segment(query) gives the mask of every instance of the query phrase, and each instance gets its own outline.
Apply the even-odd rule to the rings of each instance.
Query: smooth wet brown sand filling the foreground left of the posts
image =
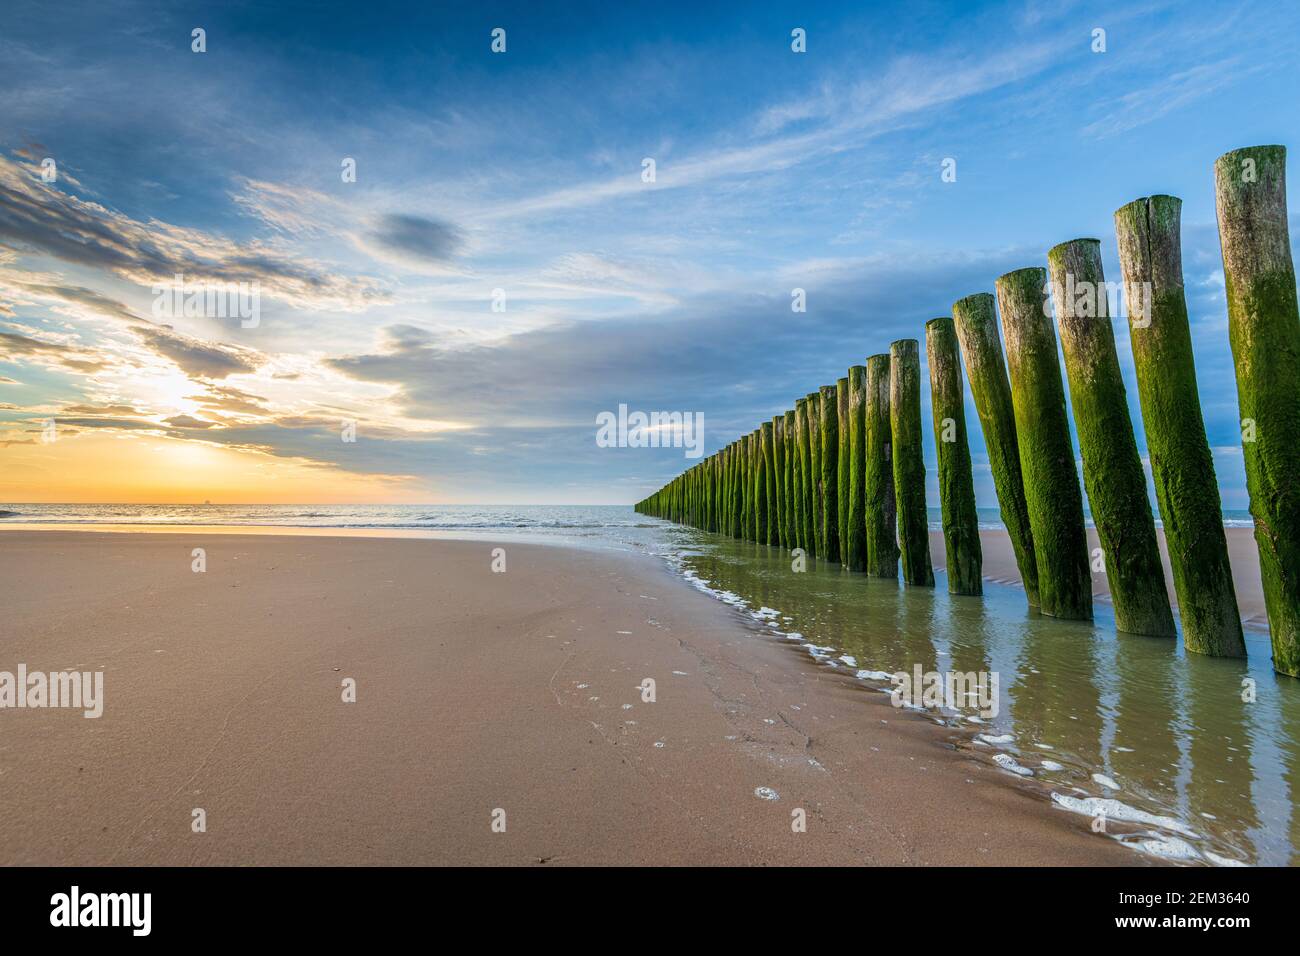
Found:
[[[0,711],[0,864],[1148,862],[655,559],[493,546],[0,532],[0,670],[105,675]]]

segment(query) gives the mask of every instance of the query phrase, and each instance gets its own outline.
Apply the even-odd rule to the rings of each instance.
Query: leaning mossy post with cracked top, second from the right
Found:
[[[1183,645],[1213,657],[1245,657],[1214,458],[1196,388],[1183,295],[1182,206],[1174,196],[1148,196],[1115,212],[1128,337]]]

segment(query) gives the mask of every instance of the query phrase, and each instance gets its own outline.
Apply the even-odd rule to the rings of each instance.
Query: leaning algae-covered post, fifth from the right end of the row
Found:
[[[1015,553],[1024,594],[1031,606],[1039,606],[1039,566],[1034,553],[1034,531],[1030,509],[1024,501],[1024,479],[1020,475],[1020,446],[1015,436],[1015,408],[1011,405],[1011,382],[1002,359],[1002,339],[997,334],[997,311],[989,293],[976,293],[953,303],[953,325],[961,342],[966,380],[975,399],[993,490],[997,492],[1002,524]]]

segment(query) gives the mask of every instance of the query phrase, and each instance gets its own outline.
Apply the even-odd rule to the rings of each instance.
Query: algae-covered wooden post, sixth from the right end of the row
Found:
[[[948,591],[953,594],[982,594],[984,557],[979,541],[979,514],[975,511],[971,453],[966,444],[962,365],[952,319],[926,323],[926,363],[930,365],[930,405],[939,457]]]

